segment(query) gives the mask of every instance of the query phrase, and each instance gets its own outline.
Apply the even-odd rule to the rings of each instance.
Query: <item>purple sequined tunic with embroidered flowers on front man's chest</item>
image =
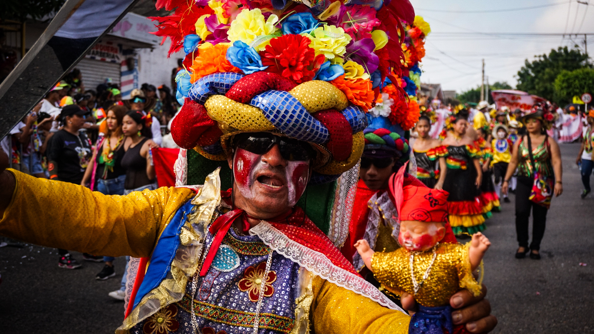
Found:
[[[208,234],[204,249],[214,236]],[[199,334],[244,334],[254,329],[263,279],[266,288],[260,308],[258,333],[289,333],[295,322],[299,264],[273,252],[257,235],[238,235],[233,229],[214,257],[206,276],[198,278],[194,312]],[[162,308],[130,329],[132,334],[194,333],[191,320],[192,282],[178,303]]]

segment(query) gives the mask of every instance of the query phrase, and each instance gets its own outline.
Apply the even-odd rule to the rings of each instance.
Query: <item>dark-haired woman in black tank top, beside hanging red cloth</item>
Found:
[[[122,121],[122,132],[126,137],[122,166],[126,169],[124,194],[132,191],[154,190],[157,188],[155,171],[150,149],[159,147],[153,140],[151,118],[140,111],[128,112]]]

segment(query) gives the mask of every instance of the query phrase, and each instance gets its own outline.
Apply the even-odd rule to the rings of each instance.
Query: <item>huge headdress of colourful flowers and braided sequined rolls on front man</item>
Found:
[[[380,86],[409,73],[409,0],[157,1],[163,7],[177,9],[153,18],[155,34],[186,53],[172,136],[211,160],[226,159],[236,133],[275,131],[317,149],[310,182],[336,179],[361,156]],[[408,105],[405,89],[393,90],[394,103]]]

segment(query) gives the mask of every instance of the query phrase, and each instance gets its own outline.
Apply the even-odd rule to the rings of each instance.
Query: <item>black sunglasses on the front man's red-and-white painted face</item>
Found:
[[[271,133],[242,133],[233,138],[238,149],[244,149],[257,155],[270,151],[274,144],[279,144],[280,155],[285,160],[309,161],[315,156],[314,150],[305,141],[274,136]]]

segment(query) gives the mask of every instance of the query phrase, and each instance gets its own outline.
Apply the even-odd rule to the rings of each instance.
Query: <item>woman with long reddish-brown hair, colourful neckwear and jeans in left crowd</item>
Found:
[[[124,194],[126,170],[121,164],[125,153],[122,120],[127,112],[128,108],[125,106],[113,105],[109,107],[105,119],[108,132],[105,136],[100,137],[81,185],[86,186],[90,180],[91,190],[106,195]]]

